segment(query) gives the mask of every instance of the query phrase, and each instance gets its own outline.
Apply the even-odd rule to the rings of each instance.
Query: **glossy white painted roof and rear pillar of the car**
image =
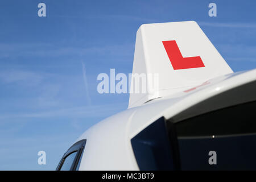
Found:
[[[192,22],[192,24],[195,23]],[[220,59],[221,65],[225,67],[222,57],[218,55],[217,57]],[[214,69],[217,69],[217,67],[214,67]],[[229,67],[226,67],[226,72],[232,71]],[[237,86],[256,81],[256,69],[246,72],[229,73],[222,76],[219,75],[220,73],[222,72],[216,73],[213,71],[211,74],[216,74],[218,77],[208,80],[201,79],[201,82],[197,84],[198,86],[186,86],[180,92],[172,93],[170,96],[157,98],[146,104],[122,111],[104,119],[85,131],[77,139],[77,141],[86,139],[85,150],[79,169],[138,170],[130,140],[140,131],[160,117],[169,119],[210,97],[217,96]],[[186,85],[188,85],[188,82],[185,81],[187,76],[181,79]],[[205,78],[209,77],[205,76]],[[177,79],[179,80],[179,78]],[[197,80],[196,77],[195,80]]]

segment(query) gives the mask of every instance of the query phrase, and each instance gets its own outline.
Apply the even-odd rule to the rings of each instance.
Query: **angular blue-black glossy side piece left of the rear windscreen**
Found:
[[[168,140],[166,120],[162,117],[131,139],[133,151],[141,170],[174,169]]]

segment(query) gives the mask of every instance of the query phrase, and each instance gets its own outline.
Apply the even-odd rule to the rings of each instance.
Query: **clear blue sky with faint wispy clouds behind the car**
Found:
[[[46,17],[38,4],[46,3]],[[208,16],[210,2],[217,17]],[[196,20],[233,71],[256,68],[256,1],[0,1],[0,169],[55,169],[88,127],[128,105],[97,76],[131,73],[143,23]],[[38,151],[47,164],[38,165]]]

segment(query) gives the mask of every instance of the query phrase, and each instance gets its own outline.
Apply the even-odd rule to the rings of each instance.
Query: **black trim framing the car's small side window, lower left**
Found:
[[[56,168],[56,171],[60,171],[61,167],[63,166],[63,163],[65,161],[65,158],[67,158],[67,156],[69,156],[70,154],[72,154],[73,152],[77,152],[76,156],[75,156],[75,160],[72,163],[71,169],[70,171],[75,171],[77,168],[77,164],[79,164],[80,160],[81,160],[81,155],[82,152],[84,151],[84,147],[86,144],[86,139],[83,140],[79,140],[78,142],[76,142],[75,144],[73,144],[67,152],[65,152],[65,154],[63,155],[63,157],[60,160],[59,165]]]

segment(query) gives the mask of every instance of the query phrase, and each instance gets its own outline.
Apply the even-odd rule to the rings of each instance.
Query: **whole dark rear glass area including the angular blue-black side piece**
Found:
[[[256,101],[176,121],[159,118],[131,139],[142,170],[256,170]]]

